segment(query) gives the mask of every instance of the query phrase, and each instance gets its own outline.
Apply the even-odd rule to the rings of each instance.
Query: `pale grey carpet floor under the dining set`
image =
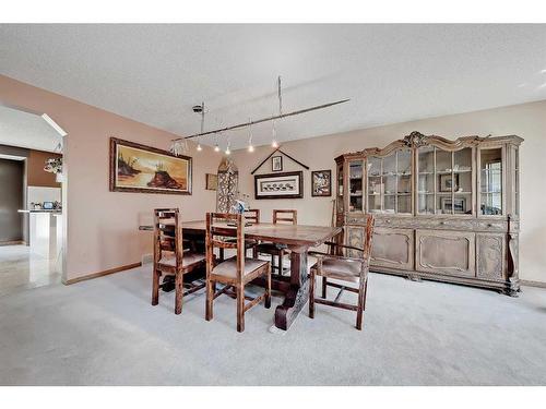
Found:
[[[152,306],[150,288],[145,265],[0,297],[0,384],[546,385],[545,289],[509,298],[371,274],[363,332],[353,312],[317,305],[272,333],[275,297],[238,334],[233,299],[206,322],[202,291],[176,316],[174,292]]]

